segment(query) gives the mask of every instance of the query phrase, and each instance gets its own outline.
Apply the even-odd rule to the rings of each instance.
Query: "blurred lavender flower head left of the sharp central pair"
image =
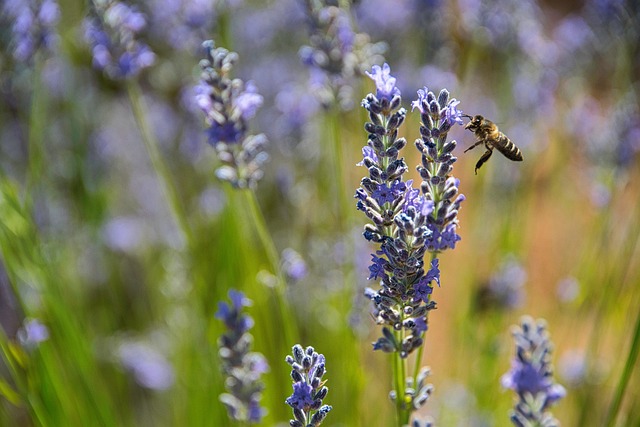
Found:
[[[247,120],[262,105],[253,83],[231,79],[238,60],[235,52],[216,48],[212,40],[202,44],[206,58],[200,61],[202,80],[196,87],[196,104],[205,114],[209,143],[223,166],[216,176],[234,187],[253,188],[262,178],[262,166],[269,155],[264,134],[247,135]]]

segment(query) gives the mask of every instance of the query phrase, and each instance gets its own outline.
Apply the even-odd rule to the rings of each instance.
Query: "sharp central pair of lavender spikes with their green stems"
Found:
[[[434,284],[440,284],[437,255],[460,240],[457,212],[464,196],[458,194],[459,181],[450,174],[456,142],[447,141],[447,133],[454,124],[462,124],[462,113],[446,89],[437,99],[426,88],[418,91],[413,107],[422,117],[422,138],[416,147],[422,154],[418,171],[423,181],[420,188],[413,188],[412,180],[403,179],[408,167],[399,157],[407,144],[398,137],[407,112],[400,106],[400,90],[390,72],[384,64],[367,73],[376,83],[376,94],[362,101],[370,121],[365,124],[368,141],[359,165],[369,176],[362,179],[355,197],[357,209],[371,221],[364,227],[365,239],[379,244],[371,255],[369,279],[380,280],[381,288],[365,292],[373,302],[376,322],[383,325],[373,348],[393,353],[390,397],[398,426],[404,426],[431,393],[425,382],[427,371],[420,370],[420,364],[428,314],[436,307],[431,295]],[[427,253],[431,259],[425,266]],[[407,376],[407,358],[415,350],[415,369]]]

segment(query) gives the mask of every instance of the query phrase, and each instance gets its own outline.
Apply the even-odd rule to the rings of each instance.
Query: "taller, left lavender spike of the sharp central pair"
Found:
[[[369,94],[362,101],[371,122],[365,125],[369,138],[359,165],[368,169],[369,176],[356,191],[356,206],[371,220],[364,237],[380,244],[371,255],[369,279],[379,280],[381,289],[369,289],[366,295],[373,301],[376,321],[386,325],[374,350],[406,358],[423,342],[427,312],[435,307],[429,301],[433,282],[440,280],[437,260],[428,271],[424,268],[432,235],[427,218],[434,205],[412,187],[411,180],[403,180],[407,165],[399,154],[406,140],[397,134],[406,111],[400,108],[395,77],[387,64],[367,74],[376,83],[377,96]],[[404,330],[402,341],[390,333],[399,328]]]

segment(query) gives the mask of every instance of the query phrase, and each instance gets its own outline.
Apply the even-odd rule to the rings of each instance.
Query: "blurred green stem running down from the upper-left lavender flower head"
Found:
[[[169,168],[158,149],[158,141],[149,126],[140,87],[135,81],[128,81],[127,92],[129,94],[129,100],[131,101],[133,116],[142,134],[142,141],[147,149],[151,165],[158,174],[158,178],[160,178],[162,191],[167,199],[173,218],[179,230],[182,232],[187,246],[191,246],[193,238],[187,221],[187,214],[180,197],[178,197],[178,191],[169,172]]]

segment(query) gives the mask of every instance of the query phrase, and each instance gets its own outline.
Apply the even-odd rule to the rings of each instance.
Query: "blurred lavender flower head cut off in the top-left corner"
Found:
[[[60,8],[55,0],[12,0],[2,6],[9,18],[13,57],[28,63],[39,50],[51,51],[57,39]]]

